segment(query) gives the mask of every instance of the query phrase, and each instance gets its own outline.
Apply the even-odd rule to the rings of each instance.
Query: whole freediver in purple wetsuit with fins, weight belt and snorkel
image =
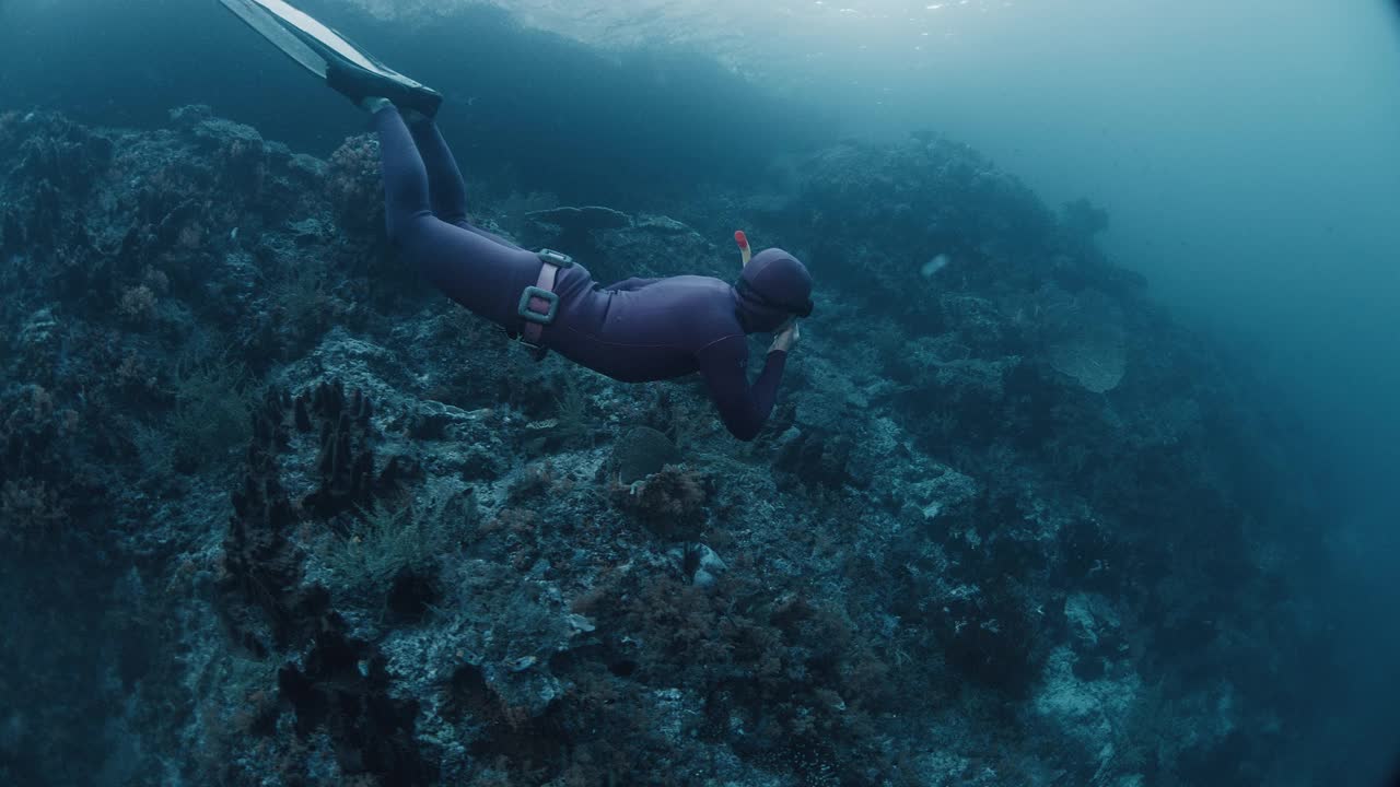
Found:
[[[434,115],[441,95],[385,67],[281,0],[224,0],[255,29],[372,116],[391,245],[444,294],[526,344],[624,382],[700,372],[724,426],[753,440],[777,398],[812,277],[783,249],[750,256],[734,283],[710,276],[602,287],[554,251],[526,251],[468,220],[466,188]],[[774,333],[748,379],[749,333]]]

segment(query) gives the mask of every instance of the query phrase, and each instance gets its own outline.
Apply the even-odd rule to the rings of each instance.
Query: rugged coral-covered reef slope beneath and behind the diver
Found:
[[[603,281],[804,256],[742,444],[430,291],[375,167],[0,115],[0,781],[1312,783],[1305,450],[1092,206],[938,137],[482,206]]]

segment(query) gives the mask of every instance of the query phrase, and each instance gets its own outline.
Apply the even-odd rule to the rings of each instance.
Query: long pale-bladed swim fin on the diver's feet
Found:
[[[281,49],[332,88],[358,104],[381,95],[400,109],[433,118],[442,94],[395,71],[350,43],[343,35],[284,0],[220,0],[248,27]]]

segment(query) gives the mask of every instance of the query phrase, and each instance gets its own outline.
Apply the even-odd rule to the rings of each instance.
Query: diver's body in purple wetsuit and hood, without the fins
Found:
[[[393,246],[456,302],[512,335],[525,330],[522,293],[542,283],[547,263],[468,221],[462,176],[430,118],[412,113],[405,122],[388,101],[360,104],[374,113],[379,136]],[[811,312],[811,277],[780,249],[748,260],[738,287],[708,276],[601,287],[584,266],[568,265],[553,272],[547,288],[557,311],[533,343],[626,382],[700,372],[725,427],[741,440],[756,437],[767,420],[798,337],[795,318]],[[756,332],[777,337],[750,385],[745,336]]]

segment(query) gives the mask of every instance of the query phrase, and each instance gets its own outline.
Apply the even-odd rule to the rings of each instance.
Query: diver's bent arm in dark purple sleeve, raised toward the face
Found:
[[[714,399],[725,429],[739,440],[757,437],[777,401],[787,353],[770,351],[763,372],[753,385],[749,385],[746,374],[749,346],[743,336],[725,336],[700,350],[699,357],[700,374],[704,375],[710,398]]]

